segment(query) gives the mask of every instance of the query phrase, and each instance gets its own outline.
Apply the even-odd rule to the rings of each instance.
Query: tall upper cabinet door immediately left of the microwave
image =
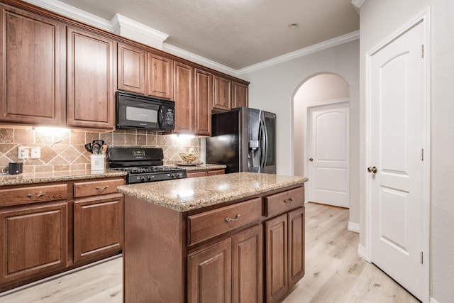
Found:
[[[114,40],[77,28],[67,39],[67,125],[114,131]]]

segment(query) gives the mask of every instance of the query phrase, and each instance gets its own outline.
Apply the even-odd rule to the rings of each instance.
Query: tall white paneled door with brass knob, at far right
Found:
[[[423,292],[423,24],[370,61],[370,258]]]

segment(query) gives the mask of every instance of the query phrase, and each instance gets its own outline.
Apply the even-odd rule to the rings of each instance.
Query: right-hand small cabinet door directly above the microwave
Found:
[[[173,99],[173,60],[148,53],[148,94]]]

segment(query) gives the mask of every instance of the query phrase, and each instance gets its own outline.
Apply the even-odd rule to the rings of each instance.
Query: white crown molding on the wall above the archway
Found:
[[[282,62],[294,60],[298,57],[310,55],[311,53],[316,53],[316,52],[319,52],[320,50],[326,50],[327,48],[332,48],[333,46],[341,45],[343,43],[348,43],[350,41],[357,40],[359,38],[360,38],[360,31],[354,31],[352,33],[340,35],[336,38],[332,38],[332,39],[323,41],[321,43],[317,43],[317,44],[308,46],[307,48],[301,48],[300,50],[295,50],[292,53],[287,53],[285,55],[282,55],[279,57],[274,57],[270,60],[266,60],[266,61],[260,62],[258,64],[255,64],[255,65],[250,65],[241,70],[237,70],[236,72],[237,72],[237,75],[243,75],[248,72],[255,72],[256,70],[262,70],[265,67],[270,67],[272,65],[277,65]]]

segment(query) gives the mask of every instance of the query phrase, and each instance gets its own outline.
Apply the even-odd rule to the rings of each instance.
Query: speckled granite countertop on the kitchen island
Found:
[[[118,191],[183,212],[302,184],[307,181],[306,177],[236,172],[166,182],[122,185],[118,187]]]

